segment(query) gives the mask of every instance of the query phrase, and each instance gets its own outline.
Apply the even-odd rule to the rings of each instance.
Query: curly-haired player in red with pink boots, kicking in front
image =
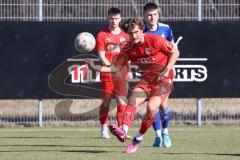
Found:
[[[86,63],[91,69],[103,72],[119,72],[128,61],[141,69],[142,79],[136,84],[129,97],[123,125],[121,127],[110,125],[110,131],[121,142],[125,142],[136,107],[147,101],[147,111],[141,128],[124,150],[126,153],[132,153],[138,149],[143,135],[152,125],[157,108],[172,91],[174,76],[172,67],[179,57],[179,51],[171,42],[160,36],[144,34],[145,25],[140,19],[129,19],[125,27],[131,37],[132,46],[122,50],[114,65],[96,66],[90,59],[87,59]]]

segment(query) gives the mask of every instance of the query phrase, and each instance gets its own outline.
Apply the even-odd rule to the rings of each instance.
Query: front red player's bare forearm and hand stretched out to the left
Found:
[[[95,65],[93,60],[89,58],[85,59],[85,62],[90,69],[98,72],[118,72],[120,70],[120,68],[116,67],[115,65],[109,65],[109,66]]]

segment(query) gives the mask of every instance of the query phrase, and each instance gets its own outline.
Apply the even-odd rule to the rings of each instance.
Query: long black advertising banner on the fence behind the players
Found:
[[[180,58],[171,97],[240,97],[240,22],[171,22]],[[0,98],[100,98],[99,73],[86,70],[75,36],[100,22],[0,25]],[[97,62],[98,63],[98,62]],[[136,66],[130,86],[140,79]]]

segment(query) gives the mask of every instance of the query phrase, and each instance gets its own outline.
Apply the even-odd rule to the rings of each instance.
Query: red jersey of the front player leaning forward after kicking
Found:
[[[118,65],[125,65],[128,60],[136,64],[142,71],[142,80],[148,84],[155,85],[159,74],[165,69],[169,61],[169,53],[173,44],[164,38],[145,34],[144,42],[140,45],[133,45],[129,50],[119,56]],[[174,78],[173,70],[169,72],[169,79]]]

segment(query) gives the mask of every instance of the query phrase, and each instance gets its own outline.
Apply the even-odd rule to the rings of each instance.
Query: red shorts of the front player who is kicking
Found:
[[[134,88],[143,89],[147,94],[147,98],[160,96],[164,101],[173,90],[173,80],[164,79],[157,85],[149,85],[146,81],[141,80]]]

